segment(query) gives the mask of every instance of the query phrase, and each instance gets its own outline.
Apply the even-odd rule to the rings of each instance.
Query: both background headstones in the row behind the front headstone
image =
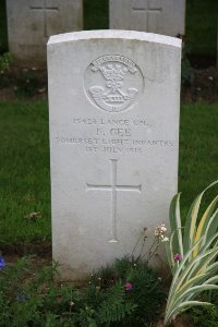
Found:
[[[83,29],[83,0],[7,0],[9,48],[16,62],[46,64],[46,43]],[[184,34],[185,0],[110,0],[110,28]]]

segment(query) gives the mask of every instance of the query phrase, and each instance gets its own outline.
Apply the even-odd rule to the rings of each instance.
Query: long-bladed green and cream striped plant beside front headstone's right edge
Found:
[[[193,305],[209,305],[205,301],[195,301],[206,290],[217,290],[218,262],[218,195],[198,219],[199,207],[206,187],[193,202],[182,232],[180,216],[180,194],[170,205],[171,237],[167,243],[169,265],[173,275],[171,282],[165,324],[169,324],[179,313]]]

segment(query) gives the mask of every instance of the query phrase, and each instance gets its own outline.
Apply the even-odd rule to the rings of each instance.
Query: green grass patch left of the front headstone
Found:
[[[46,102],[0,101],[0,244],[50,238]]]

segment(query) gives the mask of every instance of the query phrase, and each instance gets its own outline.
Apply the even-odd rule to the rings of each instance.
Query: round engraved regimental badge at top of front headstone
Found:
[[[107,55],[88,65],[84,87],[88,99],[97,108],[120,112],[136,102],[144,80],[132,60],[120,55]]]

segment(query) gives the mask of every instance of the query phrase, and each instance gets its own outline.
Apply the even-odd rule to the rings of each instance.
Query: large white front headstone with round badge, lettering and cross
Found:
[[[181,40],[126,31],[48,43],[52,249],[63,277],[131,253],[177,192]]]

